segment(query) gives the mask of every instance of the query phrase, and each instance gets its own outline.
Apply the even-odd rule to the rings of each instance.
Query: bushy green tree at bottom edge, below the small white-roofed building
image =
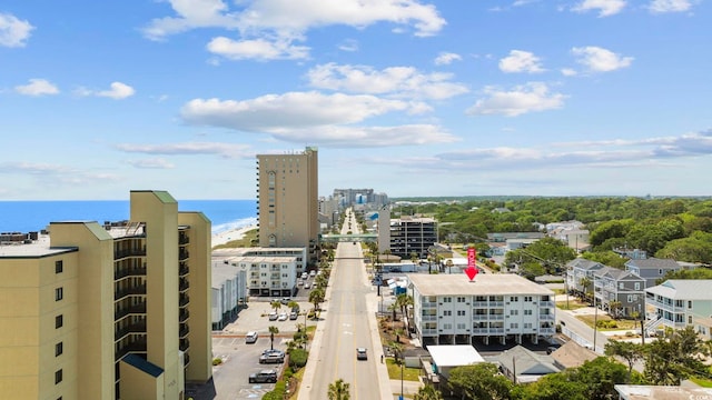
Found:
[[[447,384],[462,399],[508,399],[513,383],[497,372],[497,367],[490,362],[455,367],[449,372]]]

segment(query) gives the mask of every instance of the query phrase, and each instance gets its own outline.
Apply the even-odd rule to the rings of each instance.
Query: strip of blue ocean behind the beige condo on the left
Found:
[[[178,200],[178,210],[201,211],[214,234],[257,223],[255,200]],[[0,201],[0,232],[40,231],[58,221],[122,221],[129,212],[128,200]]]

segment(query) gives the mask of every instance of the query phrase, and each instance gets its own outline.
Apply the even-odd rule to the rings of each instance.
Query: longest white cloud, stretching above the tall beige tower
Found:
[[[307,127],[362,122],[392,111],[407,111],[409,104],[374,96],[288,92],[251,100],[195,99],[180,116],[187,123],[224,127],[240,131],[276,133]]]

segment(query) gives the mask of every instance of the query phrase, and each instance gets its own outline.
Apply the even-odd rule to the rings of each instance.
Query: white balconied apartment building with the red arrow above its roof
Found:
[[[538,342],[555,333],[554,292],[512,273],[407,276],[423,346]]]

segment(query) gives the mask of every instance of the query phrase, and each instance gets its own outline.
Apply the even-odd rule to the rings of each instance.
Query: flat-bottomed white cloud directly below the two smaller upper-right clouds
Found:
[[[487,98],[477,100],[473,107],[466,110],[467,114],[516,117],[527,112],[562,108],[566,98],[561,93],[551,93],[548,87],[542,82],[530,82],[515,87],[511,91],[487,87],[484,89],[484,93]]]

